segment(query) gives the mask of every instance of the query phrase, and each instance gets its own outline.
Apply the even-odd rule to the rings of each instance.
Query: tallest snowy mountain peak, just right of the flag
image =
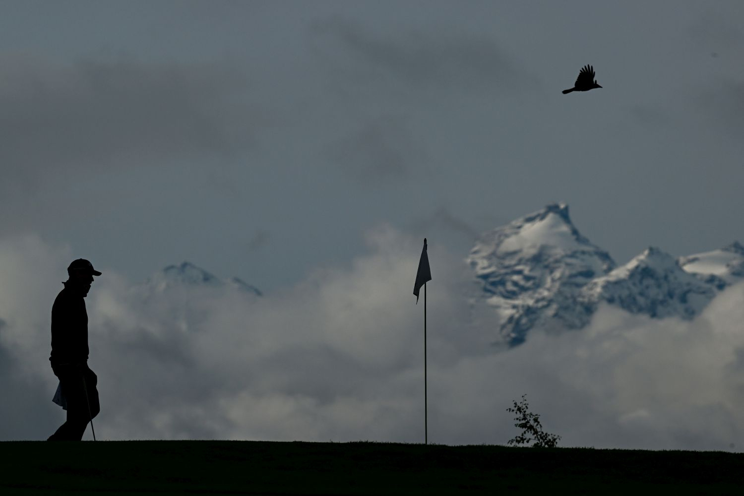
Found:
[[[565,203],[484,234],[466,261],[501,318],[499,334],[511,344],[536,325],[588,323],[591,312],[576,304],[580,290],[615,268],[606,251],[577,231]]]

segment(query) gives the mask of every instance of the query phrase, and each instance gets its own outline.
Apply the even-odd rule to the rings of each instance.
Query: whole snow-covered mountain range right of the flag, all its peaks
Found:
[[[466,262],[479,285],[474,303],[498,312],[498,335],[512,345],[535,326],[583,327],[603,302],[652,318],[690,319],[744,280],[744,247],[736,242],[679,260],[648,248],[617,267],[579,233],[565,203],[485,233]]]

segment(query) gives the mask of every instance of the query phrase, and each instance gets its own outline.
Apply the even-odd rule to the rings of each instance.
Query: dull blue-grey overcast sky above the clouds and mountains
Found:
[[[744,238],[740,1],[4,2],[5,236],[263,291],[388,222],[564,201],[618,263]],[[601,90],[562,95],[594,65]]]

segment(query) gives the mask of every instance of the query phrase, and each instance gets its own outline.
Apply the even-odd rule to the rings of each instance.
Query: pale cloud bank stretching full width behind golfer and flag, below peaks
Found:
[[[103,271],[87,300],[101,439],[423,441],[421,249],[391,228],[369,253],[262,298],[228,289],[149,294]],[[301,246],[298,246],[301,249]],[[45,439],[51,303],[68,248],[0,240],[0,439]],[[84,256],[84,255],[83,255]],[[495,317],[466,303],[459,257],[429,243],[429,441],[504,444],[527,393],[559,445],[744,446],[744,285],[694,321],[606,306],[591,326],[490,345]],[[248,281],[250,282],[250,281]]]

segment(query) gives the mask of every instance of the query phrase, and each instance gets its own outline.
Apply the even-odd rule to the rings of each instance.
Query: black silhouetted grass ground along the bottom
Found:
[[[379,442],[0,442],[0,495],[744,495],[744,454]]]

